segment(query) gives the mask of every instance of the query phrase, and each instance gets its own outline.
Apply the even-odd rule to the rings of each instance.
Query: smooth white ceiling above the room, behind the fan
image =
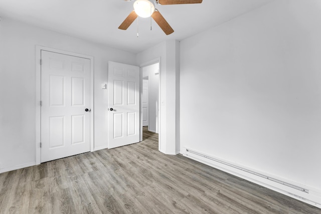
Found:
[[[125,0],[0,0],[0,17],[82,38],[132,53],[165,40],[183,40],[273,0],[203,0],[202,4],[156,5],[174,33],[166,36],[152,20],[139,18],[126,31],[118,26],[133,10]]]

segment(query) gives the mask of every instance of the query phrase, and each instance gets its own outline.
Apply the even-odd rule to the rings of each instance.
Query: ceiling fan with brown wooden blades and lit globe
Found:
[[[125,0],[132,2],[134,0]],[[127,28],[133,23],[133,21],[139,16],[142,18],[151,17],[159,27],[164,31],[166,35],[170,35],[174,32],[172,27],[168,24],[165,18],[157,9],[157,5],[179,5],[179,4],[200,4],[203,0],[136,0],[134,2],[134,10],[128,15],[128,17],[118,27],[120,30],[127,30]]]

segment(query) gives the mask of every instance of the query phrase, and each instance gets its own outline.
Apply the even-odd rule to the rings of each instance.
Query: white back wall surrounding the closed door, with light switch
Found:
[[[94,147],[107,146],[108,61],[136,55],[3,18],[0,22],[0,172],[35,164],[36,45],[94,57]],[[39,142],[38,142],[39,143]]]

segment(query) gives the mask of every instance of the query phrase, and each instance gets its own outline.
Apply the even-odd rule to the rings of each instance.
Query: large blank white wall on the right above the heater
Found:
[[[278,0],[181,42],[181,152],[321,193],[320,11]]]

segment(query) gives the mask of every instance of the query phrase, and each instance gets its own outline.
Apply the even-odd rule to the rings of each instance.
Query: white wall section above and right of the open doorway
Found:
[[[161,79],[161,109],[159,112],[159,151],[178,154],[179,151],[179,42],[165,41],[137,54],[137,64],[143,65],[161,59],[159,78]]]

